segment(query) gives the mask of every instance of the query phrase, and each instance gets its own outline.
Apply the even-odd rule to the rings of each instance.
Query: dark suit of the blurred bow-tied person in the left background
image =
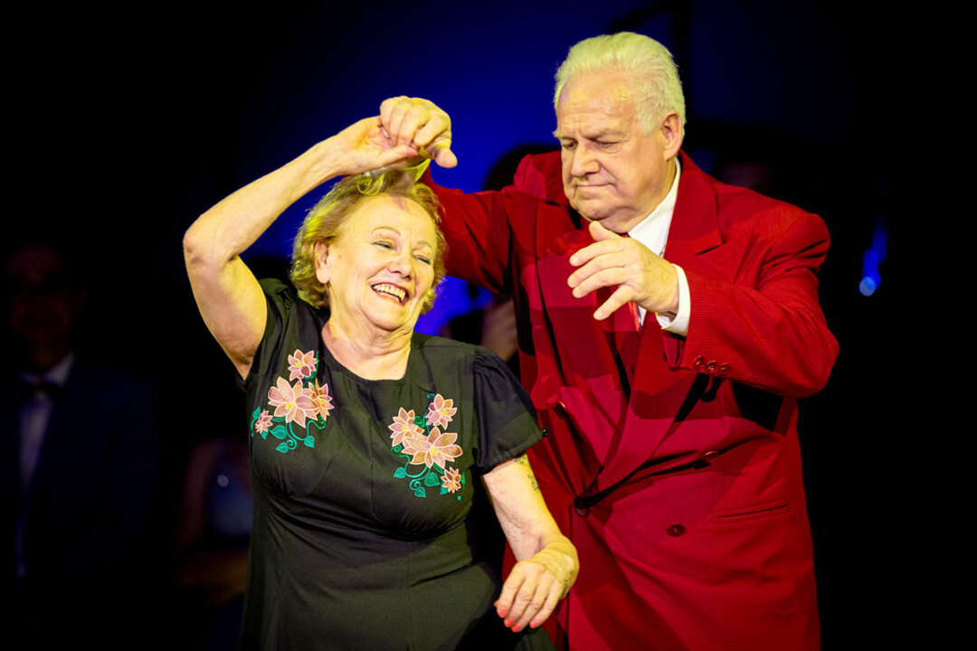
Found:
[[[23,648],[82,641],[145,648],[147,640],[133,634],[157,616],[159,579],[168,569],[150,526],[158,486],[154,391],[76,357],[63,389],[54,391],[37,465],[23,485],[18,414],[28,398],[8,370],[0,482],[4,577],[15,608],[7,611],[13,621],[4,638]]]

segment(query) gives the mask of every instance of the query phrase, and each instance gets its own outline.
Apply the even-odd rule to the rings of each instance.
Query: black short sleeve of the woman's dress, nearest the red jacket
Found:
[[[498,355],[480,347],[473,367],[481,450],[476,466],[488,472],[529,450],[543,431],[530,396]]]

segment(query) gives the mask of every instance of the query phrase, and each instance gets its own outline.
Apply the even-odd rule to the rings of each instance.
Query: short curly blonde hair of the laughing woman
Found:
[[[319,203],[309,210],[305,221],[295,235],[292,247],[292,268],[289,277],[299,298],[310,305],[327,307],[329,295],[316,275],[316,245],[330,245],[339,237],[346,219],[360,203],[372,196],[389,194],[410,199],[428,214],[437,233],[437,251],[434,255],[434,282],[424,299],[422,312],[434,305],[436,290],[445,276],[447,243],[441,232],[441,213],[438,197],[424,183],[416,183],[404,170],[384,170],[382,173],[358,174],[346,177],[333,185]]]

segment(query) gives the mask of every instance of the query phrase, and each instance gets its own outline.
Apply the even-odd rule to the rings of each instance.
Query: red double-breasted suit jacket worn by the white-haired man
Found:
[[[532,466],[580,574],[558,614],[570,648],[819,647],[796,397],[837,344],[818,305],[820,218],[711,179],[685,154],[664,258],[689,281],[687,337],[605,289],[575,299],[593,242],[559,153],[501,192],[435,186],[448,273],[515,297],[523,382],[549,435]]]

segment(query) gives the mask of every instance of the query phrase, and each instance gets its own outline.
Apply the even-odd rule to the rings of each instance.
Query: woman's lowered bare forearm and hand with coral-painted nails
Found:
[[[483,481],[518,561],[502,585],[495,611],[513,631],[536,628],[573,586],[580,567],[576,549],[546,509],[525,455],[492,468]]]

